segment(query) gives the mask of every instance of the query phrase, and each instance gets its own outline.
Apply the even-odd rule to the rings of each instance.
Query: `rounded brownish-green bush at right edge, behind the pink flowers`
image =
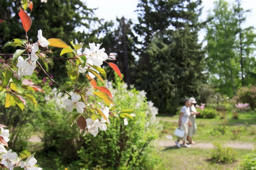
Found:
[[[256,108],[256,86],[242,87],[237,92],[240,103],[249,103],[252,110]]]

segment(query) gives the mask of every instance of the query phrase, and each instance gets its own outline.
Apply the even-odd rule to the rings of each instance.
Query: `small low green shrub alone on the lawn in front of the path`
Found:
[[[231,147],[223,147],[218,142],[213,142],[214,148],[211,153],[213,163],[234,163],[237,160],[237,153]]]

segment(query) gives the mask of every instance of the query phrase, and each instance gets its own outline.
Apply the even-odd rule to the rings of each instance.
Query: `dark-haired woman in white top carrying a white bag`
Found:
[[[181,108],[181,113],[179,116],[179,127],[181,130],[185,131],[184,136],[183,137],[178,137],[178,139],[175,141],[176,145],[180,148],[182,147],[187,147],[190,148],[191,146],[186,144],[186,139],[188,136],[188,126],[192,126],[190,120],[189,120],[189,116],[190,116],[190,102],[189,99],[185,99],[184,100],[184,106]],[[179,141],[182,140],[183,144],[180,146]]]

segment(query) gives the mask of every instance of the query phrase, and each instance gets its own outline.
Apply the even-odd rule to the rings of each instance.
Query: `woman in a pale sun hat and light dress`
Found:
[[[190,101],[190,116],[189,116],[189,119],[190,119],[190,122],[192,124],[191,127],[188,127],[188,141],[190,144],[196,144],[193,140],[192,140],[192,136],[194,134],[196,134],[196,129],[197,129],[197,126],[196,126],[196,115],[200,114],[200,112],[197,112],[194,104],[196,104],[196,99],[191,97],[189,99]]]

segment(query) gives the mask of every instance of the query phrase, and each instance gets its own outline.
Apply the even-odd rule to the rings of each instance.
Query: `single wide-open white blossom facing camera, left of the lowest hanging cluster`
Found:
[[[68,112],[72,112],[73,108],[75,107],[77,109],[78,113],[83,113],[85,108],[85,103],[79,101],[79,96],[75,93],[72,94],[71,100],[66,99],[64,102],[64,105],[66,105],[66,110]]]

